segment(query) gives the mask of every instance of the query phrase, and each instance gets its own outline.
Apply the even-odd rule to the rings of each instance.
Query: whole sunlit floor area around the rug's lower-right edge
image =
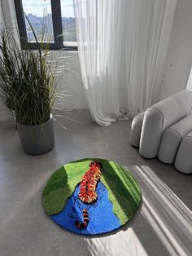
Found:
[[[142,207],[133,221],[119,232],[84,238],[90,254],[190,255],[191,211],[148,166],[127,169],[141,185]]]

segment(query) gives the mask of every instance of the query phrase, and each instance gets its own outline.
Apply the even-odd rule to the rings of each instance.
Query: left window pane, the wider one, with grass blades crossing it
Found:
[[[23,0],[24,12],[33,25],[38,42],[41,42],[41,35],[44,33],[44,41],[54,42],[53,23],[50,0]],[[43,26],[43,22],[46,26]],[[33,31],[25,18],[28,42],[35,42]],[[43,29],[45,28],[45,30]],[[44,31],[43,31],[44,30]]]

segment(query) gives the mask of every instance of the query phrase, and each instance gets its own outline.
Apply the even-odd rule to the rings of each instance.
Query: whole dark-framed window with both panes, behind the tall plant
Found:
[[[22,48],[28,45],[32,49],[37,49],[41,42],[42,24],[46,20],[45,42],[50,42],[50,50],[77,50],[72,0],[15,0],[15,11]],[[28,20],[24,17],[24,12],[33,25],[38,43]]]

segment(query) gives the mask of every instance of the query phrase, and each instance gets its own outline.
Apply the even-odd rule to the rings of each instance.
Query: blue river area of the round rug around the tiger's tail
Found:
[[[80,186],[78,185],[73,195],[66,202],[65,208],[59,214],[50,215],[50,218],[59,226],[85,235],[98,235],[111,232],[120,227],[120,220],[113,213],[111,201],[108,199],[107,188],[99,182],[97,186],[98,199],[94,204],[86,205],[78,199]],[[83,221],[82,210],[89,213],[89,224],[84,229],[76,227],[76,220]]]

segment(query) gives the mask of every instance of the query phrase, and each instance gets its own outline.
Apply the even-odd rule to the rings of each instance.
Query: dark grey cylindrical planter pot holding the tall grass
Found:
[[[40,155],[54,148],[55,137],[52,115],[50,120],[38,126],[23,126],[17,123],[17,129],[24,152],[30,155]]]

